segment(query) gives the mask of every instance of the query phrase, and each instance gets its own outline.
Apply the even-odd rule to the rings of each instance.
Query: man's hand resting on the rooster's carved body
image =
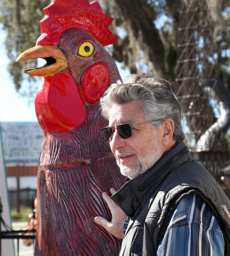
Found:
[[[116,191],[114,189],[110,189],[111,194],[114,194]],[[107,221],[103,217],[95,217],[94,222],[101,225],[105,228],[110,234],[114,235],[119,239],[123,239],[123,223],[124,220],[127,219],[127,216],[123,213],[123,211],[115,204],[115,202],[106,194],[106,192],[102,193],[102,198],[106,201],[111,214],[112,220],[111,222]]]

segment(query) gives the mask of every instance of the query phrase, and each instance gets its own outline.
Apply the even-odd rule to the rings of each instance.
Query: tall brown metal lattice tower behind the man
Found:
[[[181,1],[176,96],[188,126],[187,143],[192,148],[216,121],[210,106],[210,86],[215,88],[216,80],[210,80],[214,63],[208,15],[205,0]]]

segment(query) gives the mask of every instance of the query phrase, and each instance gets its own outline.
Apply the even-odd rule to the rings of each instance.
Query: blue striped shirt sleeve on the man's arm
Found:
[[[213,212],[196,194],[184,197],[175,209],[157,256],[224,255],[224,238]]]

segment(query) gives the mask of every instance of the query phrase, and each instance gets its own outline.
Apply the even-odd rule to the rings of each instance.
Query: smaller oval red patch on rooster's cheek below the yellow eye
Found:
[[[103,62],[91,65],[82,75],[81,86],[85,99],[94,104],[109,85],[109,70]]]

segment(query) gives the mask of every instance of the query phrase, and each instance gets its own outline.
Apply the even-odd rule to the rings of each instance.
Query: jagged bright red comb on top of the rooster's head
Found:
[[[88,0],[51,0],[43,9],[40,21],[41,36],[36,45],[56,46],[62,33],[69,28],[80,28],[93,35],[103,46],[117,42],[109,30],[113,18],[103,13],[99,3]]]

